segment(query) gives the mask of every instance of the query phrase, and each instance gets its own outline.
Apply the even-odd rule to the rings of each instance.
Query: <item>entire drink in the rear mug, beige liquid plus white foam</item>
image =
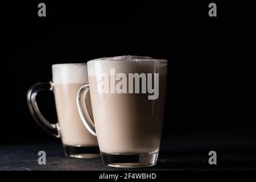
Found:
[[[63,144],[67,146],[97,146],[96,137],[90,134],[82,124],[76,106],[76,94],[80,86],[88,82],[86,65],[69,64],[66,68],[53,65],[52,69],[54,72],[53,92]],[[87,98],[86,104],[92,116],[90,97]]]

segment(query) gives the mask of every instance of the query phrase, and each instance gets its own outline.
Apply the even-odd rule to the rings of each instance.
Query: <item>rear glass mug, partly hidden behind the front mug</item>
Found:
[[[82,124],[76,106],[76,95],[80,86],[88,82],[86,64],[53,64],[52,81],[40,82],[28,90],[28,107],[35,121],[49,134],[61,138],[66,156],[73,158],[99,158],[97,138]],[[36,94],[41,90],[51,90],[55,96],[58,122],[49,123],[40,113],[36,104]],[[92,115],[90,98],[86,100]]]

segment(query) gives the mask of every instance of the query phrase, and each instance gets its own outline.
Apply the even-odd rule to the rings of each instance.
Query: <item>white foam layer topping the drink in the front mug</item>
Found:
[[[117,56],[88,61],[89,76],[97,76],[100,73],[110,75],[110,69],[115,69],[115,74],[159,73],[159,75],[167,75],[167,60],[152,57]]]

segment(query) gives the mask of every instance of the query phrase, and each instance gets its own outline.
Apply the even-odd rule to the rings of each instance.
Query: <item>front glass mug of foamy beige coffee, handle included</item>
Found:
[[[87,65],[89,83],[79,89],[77,107],[85,127],[97,135],[102,162],[118,168],[154,166],[162,135],[167,60],[118,56]],[[94,119],[84,104],[88,97]]]

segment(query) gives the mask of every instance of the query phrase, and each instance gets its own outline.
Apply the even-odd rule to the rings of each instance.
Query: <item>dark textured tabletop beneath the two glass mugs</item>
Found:
[[[253,132],[173,134],[163,136],[158,164],[142,170],[245,170],[256,169]],[[38,151],[46,151],[47,164],[38,164]],[[217,152],[217,165],[208,164],[208,152]],[[139,170],[141,170],[139,169]],[[64,156],[59,142],[14,144],[0,148],[0,170],[117,170],[105,167],[101,159],[73,159]],[[131,170],[131,169],[125,169]],[[136,169],[138,170],[138,169]]]

